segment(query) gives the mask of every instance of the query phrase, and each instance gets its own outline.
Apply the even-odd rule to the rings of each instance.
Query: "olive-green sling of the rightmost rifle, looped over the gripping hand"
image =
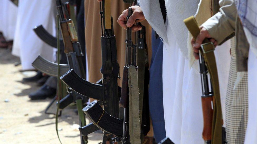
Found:
[[[191,16],[184,20],[188,30],[192,34],[193,38],[196,39],[197,35],[200,33],[199,26],[194,18]],[[210,73],[213,93],[214,93],[214,112],[212,120],[212,137],[211,143],[221,143],[222,142],[222,111],[220,102],[220,90],[219,90],[219,79],[218,71],[214,55],[214,45],[205,39],[202,44],[202,49],[199,49],[200,54],[204,57],[206,66]]]

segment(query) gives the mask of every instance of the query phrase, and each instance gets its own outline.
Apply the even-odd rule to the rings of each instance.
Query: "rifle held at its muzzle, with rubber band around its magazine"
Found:
[[[132,14],[132,9],[129,8],[129,19]],[[130,143],[129,137],[129,86],[128,86],[128,76],[129,67],[137,65],[137,47],[133,44],[131,38],[131,28],[127,28],[127,38],[126,38],[126,64],[123,69],[123,80],[121,89],[121,100],[120,106],[124,108],[123,119],[118,119],[118,116],[113,117],[103,110],[97,100],[91,102],[87,105],[83,111],[90,118],[93,123],[99,127],[101,130],[111,133],[116,137],[112,138],[113,142]],[[142,42],[142,41],[141,41]]]

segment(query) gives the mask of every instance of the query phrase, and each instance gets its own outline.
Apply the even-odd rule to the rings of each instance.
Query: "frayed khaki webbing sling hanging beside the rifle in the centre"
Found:
[[[129,67],[129,135],[130,143],[140,143],[139,92],[135,66]]]

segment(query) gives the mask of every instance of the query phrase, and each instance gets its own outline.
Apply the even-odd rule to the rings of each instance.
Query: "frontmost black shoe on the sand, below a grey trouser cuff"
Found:
[[[36,92],[30,93],[28,97],[31,100],[38,100],[38,99],[46,99],[47,97],[54,97],[55,94],[56,94],[55,88],[50,88],[49,86],[44,84]]]

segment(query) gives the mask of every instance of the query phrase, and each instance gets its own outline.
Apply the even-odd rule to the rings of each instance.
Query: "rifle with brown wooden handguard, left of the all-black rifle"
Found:
[[[68,66],[82,78],[86,78],[86,73],[82,64],[81,57],[83,56],[80,43],[78,42],[77,33],[73,24],[73,21],[70,19],[67,5],[62,3],[61,0],[56,0],[56,6],[58,10],[58,16],[60,19],[61,32],[64,42],[64,52],[67,57]],[[72,90],[69,91],[69,94],[60,100],[60,108],[63,109],[71,102],[71,99],[76,102],[80,120],[80,126],[86,125],[85,115],[81,111],[81,107],[88,101],[87,97],[80,95]],[[81,136],[81,143],[87,143],[87,136]]]

